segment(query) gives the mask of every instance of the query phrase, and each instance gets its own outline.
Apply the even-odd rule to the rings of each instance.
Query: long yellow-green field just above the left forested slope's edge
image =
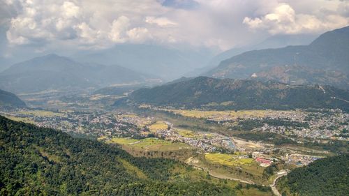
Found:
[[[181,149],[191,149],[188,144],[179,142],[170,142],[167,140],[159,140],[157,138],[145,138],[142,140],[135,140],[131,138],[112,138],[107,143],[116,143],[134,147],[135,149],[143,149],[146,151],[177,151]]]

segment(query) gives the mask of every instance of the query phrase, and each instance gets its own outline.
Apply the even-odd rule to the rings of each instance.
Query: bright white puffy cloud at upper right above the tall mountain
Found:
[[[331,10],[327,10],[329,11]],[[319,33],[345,27],[349,24],[349,18],[335,13],[296,13],[288,3],[279,3],[265,15],[245,17],[243,23],[251,29],[265,29],[272,34]]]

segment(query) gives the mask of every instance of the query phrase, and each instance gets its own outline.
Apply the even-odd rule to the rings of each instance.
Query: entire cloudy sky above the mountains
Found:
[[[1,57],[116,44],[224,51],[349,25],[346,0],[0,0]]]

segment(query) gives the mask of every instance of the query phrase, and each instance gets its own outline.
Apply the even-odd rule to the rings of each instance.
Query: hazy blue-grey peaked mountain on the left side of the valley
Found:
[[[4,70],[0,73],[0,88],[15,93],[32,93],[144,82],[149,78],[149,75],[121,66],[82,64],[64,56],[49,54]]]

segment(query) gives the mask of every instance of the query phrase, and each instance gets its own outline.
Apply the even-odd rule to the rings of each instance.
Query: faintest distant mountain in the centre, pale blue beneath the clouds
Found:
[[[160,45],[116,45],[98,52],[80,52],[73,55],[78,61],[119,64],[131,70],[174,80],[195,68],[204,66],[213,55],[211,52],[191,48],[176,49]]]

